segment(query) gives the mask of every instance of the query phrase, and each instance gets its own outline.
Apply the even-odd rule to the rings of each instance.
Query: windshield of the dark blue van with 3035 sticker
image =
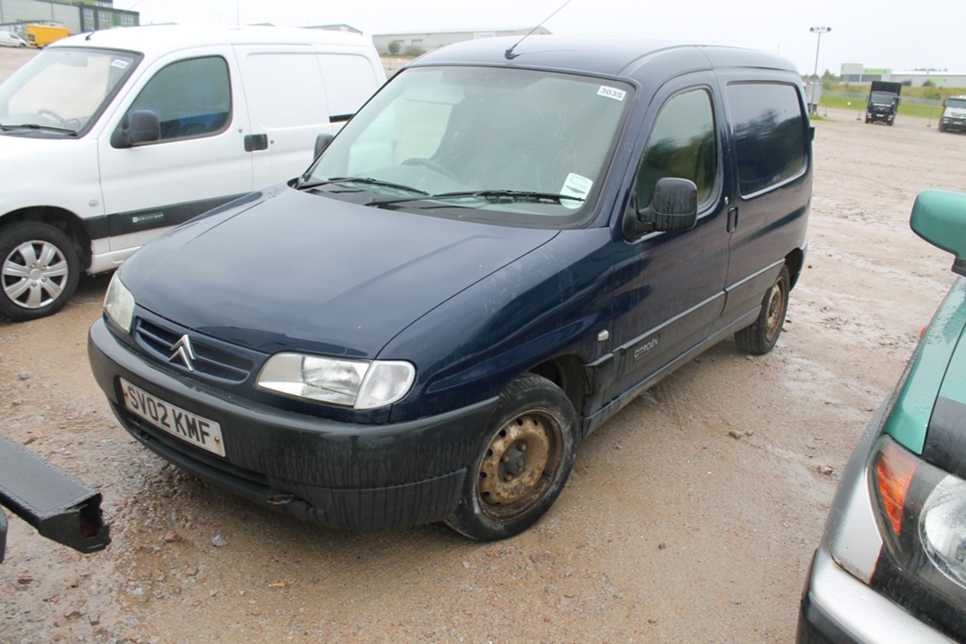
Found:
[[[345,126],[306,184],[376,193],[370,205],[566,223],[592,209],[631,92],[548,71],[405,70]]]

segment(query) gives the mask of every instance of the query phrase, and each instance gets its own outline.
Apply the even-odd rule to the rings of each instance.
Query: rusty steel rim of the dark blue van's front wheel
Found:
[[[487,446],[476,479],[480,508],[492,518],[517,517],[554,481],[562,434],[553,414],[530,410],[504,424]]]

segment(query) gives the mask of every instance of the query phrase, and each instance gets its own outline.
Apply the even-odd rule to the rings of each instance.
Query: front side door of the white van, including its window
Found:
[[[230,47],[158,59],[105,124],[100,182],[112,251],[136,248],[252,189],[248,115]],[[160,139],[126,148],[120,127],[134,110],[155,112]]]

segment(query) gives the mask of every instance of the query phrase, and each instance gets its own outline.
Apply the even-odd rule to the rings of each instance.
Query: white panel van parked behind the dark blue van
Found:
[[[81,270],[297,176],[384,80],[372,42],[333,31],[165,25],[50,44],[0,85],[0,317],[50,315]]]

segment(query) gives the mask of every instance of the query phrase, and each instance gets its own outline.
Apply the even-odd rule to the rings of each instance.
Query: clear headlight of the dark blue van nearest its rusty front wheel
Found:
[[[276,353],[262,368],[258,386],[296,398],[374,409],[409,393],[415,375],[409,362]]]

